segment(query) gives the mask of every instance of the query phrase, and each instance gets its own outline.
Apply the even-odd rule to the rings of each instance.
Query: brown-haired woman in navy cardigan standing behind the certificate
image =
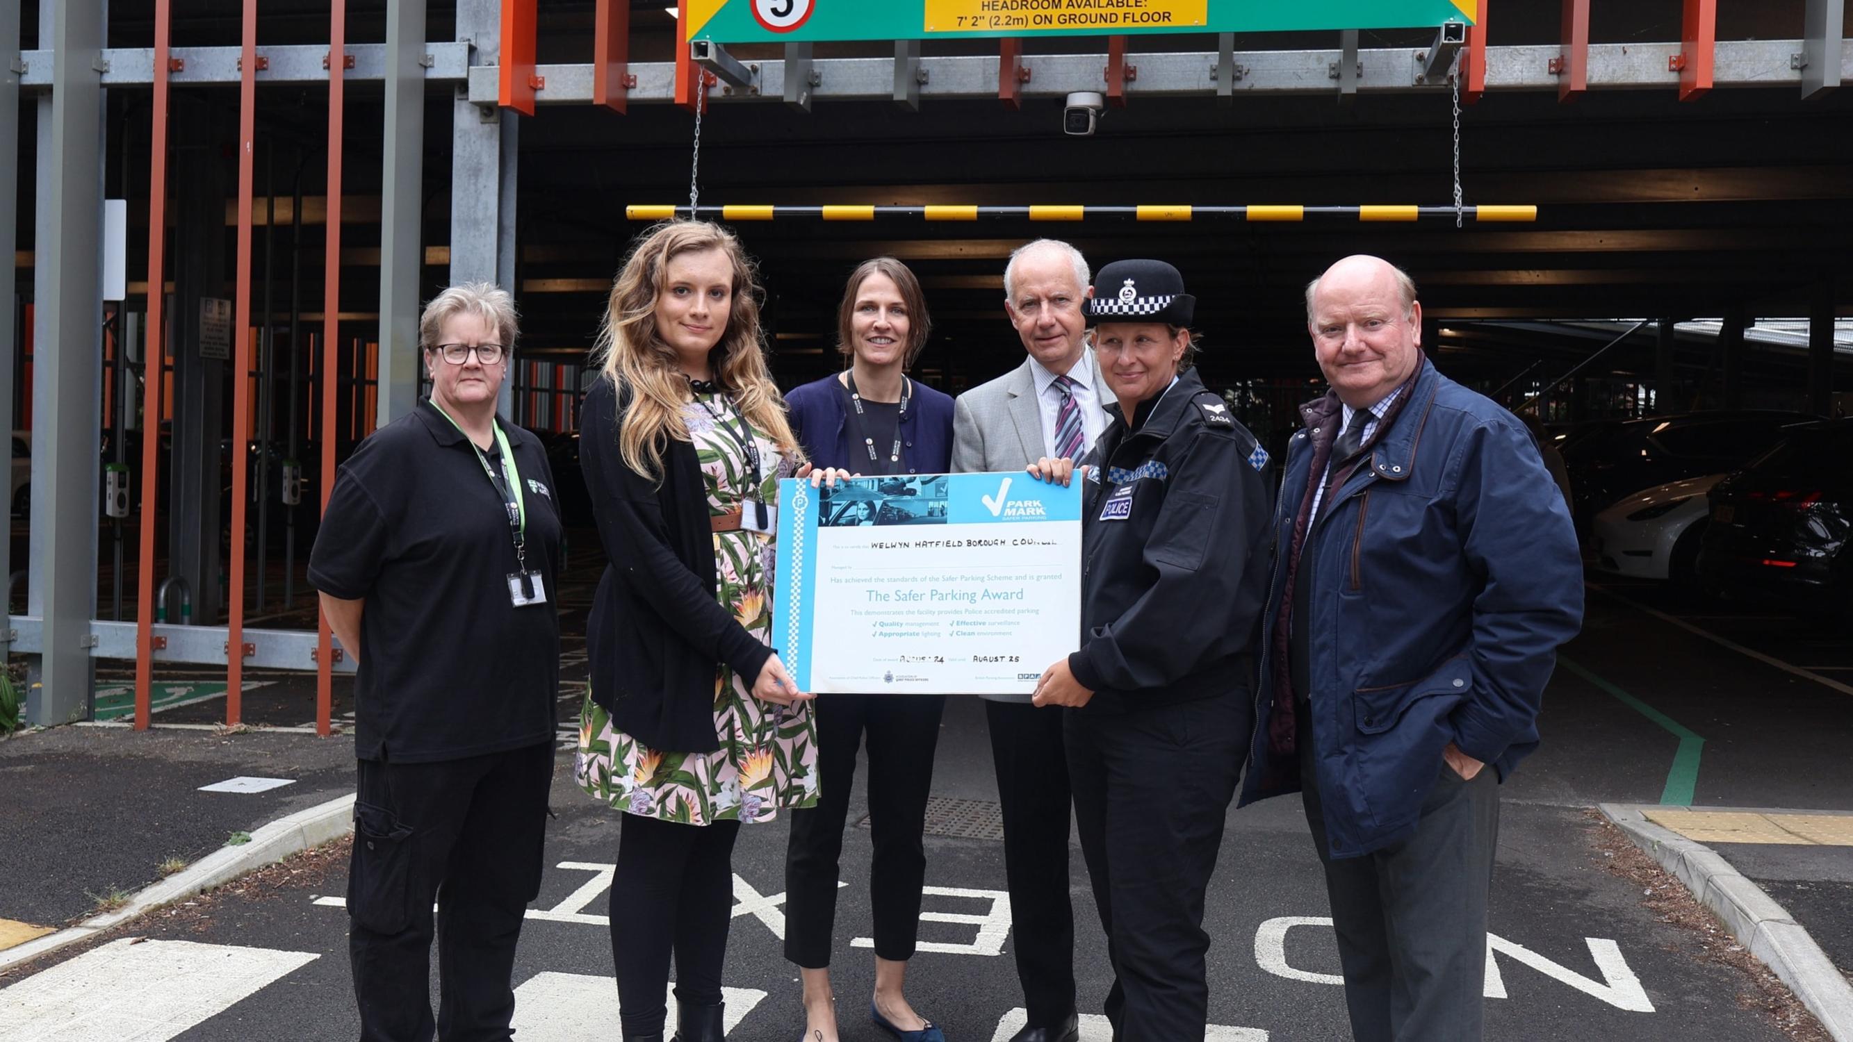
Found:
[[[906,265],[876,257],[849,276],[838,350],[849,368],[786,394],[791,429],[817,470],[854,476],[945,474],[952,468],[952,400],[906,376],[932,322]],[[786,850],[786,959],[804,981],[804,1038],[836,1042],[830,949],[838,857],[856,748],[869,742],[875,861],[875,999],[869,1016],[902,1042],[945,1042],[904,994],[926,877],[926,794],[939,740],[939,694],[828,694],[815,703],[819,801],[791,811]]]

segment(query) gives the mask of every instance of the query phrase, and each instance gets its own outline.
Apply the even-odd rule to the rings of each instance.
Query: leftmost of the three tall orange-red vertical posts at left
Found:
[[[135,729],[148,729],[148,696],[154,687],[154,515],[159,500],[161,391],[167,359],[167,78],[170,0],[154,0],[154,126],[148,146],[148,339],[143,342],[141,394],[141,531],[135,587]],[[26,329],[30,335],[32,316]],[[28,396],[30,402],[30,396]]]

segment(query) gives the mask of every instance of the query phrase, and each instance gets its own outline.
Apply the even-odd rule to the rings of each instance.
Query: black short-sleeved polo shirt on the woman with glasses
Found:
[[[367,602],[354,685],[359,759],[448,761],[554,738],[554,476],[534,435],[502,429],[521,468],[528,568],[543,576],[545,605],[511,603],[508,511],[471,442],[430,402],[374,431],[335,476],[309,583]]]

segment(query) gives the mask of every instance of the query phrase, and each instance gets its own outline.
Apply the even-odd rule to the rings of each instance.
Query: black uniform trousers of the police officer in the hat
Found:
[[[1203,905],[1251,729],[1249,694],[1065,716],[1080,851],[1114,966],[1104,1007],[1114,1042],[1203,1038]]]

